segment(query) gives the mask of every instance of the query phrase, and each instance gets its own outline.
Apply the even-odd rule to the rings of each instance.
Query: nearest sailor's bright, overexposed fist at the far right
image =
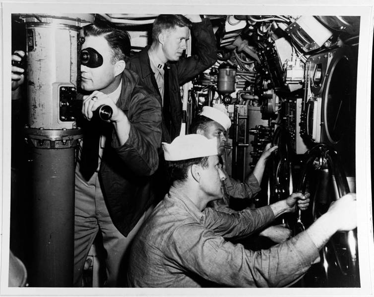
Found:
[[[325,215],[331,218],[337,231],[350,231],[357,227],[356,194],[348,193],[331,203]]]

